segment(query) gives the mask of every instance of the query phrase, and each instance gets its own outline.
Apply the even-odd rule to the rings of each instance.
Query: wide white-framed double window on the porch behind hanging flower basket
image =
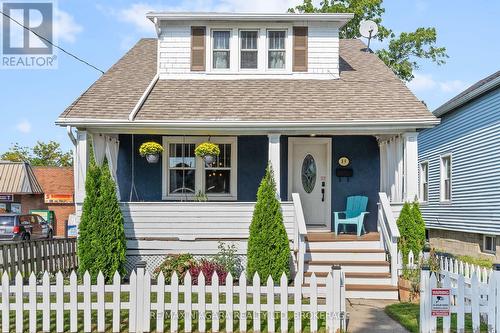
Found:
[[[220,154],[210,164],[195,156],[206,137],[164,137],[163,199],[193,200],[204,193],[210,200],[236,200],[236,138],[212,137]]]

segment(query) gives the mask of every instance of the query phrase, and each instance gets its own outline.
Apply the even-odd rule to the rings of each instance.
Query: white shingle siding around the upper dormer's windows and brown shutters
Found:
[[[266,78],[295,78],[295,77],[314,77],[308,74],[323,74],[318,78],[338,78],[339,76],[339,37],[336,23],[331,22],[300,22],[298,26],[308,26],[308,72],[293,73],[292,76],[292,26],[289,23],[261,22],[249,25],[249,23],[234,24],[228,26],[227,23],[212,22],[210,25],[206,22],[179,22],[169,23],[161,27],[160,37],[158,39],[158,72],[160,78],[234,78],[229,74],[234,74],[238,78],[251,78],[260,75]],[[210,76],[203,72],[191,72],[191,26],[206,26],[206,70],[210,72],[211,67],[211,28],[227,27],[233,30],[233,37],[238,37],[239,29],[260,29],[259,40],[259,68],[255,71],[239,70],[239,40],[231,41],[231,70],[220,74]],[[287,45],[287,69],[285,71],[270,71],[267,69],[267,29],[286,29],[288,31]],[[305,75],[305,76],[304,76]]]

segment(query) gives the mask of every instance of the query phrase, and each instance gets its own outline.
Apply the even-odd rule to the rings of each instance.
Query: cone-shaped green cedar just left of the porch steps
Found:
[[[274,281],[279,281],[283,272],[290,277],[290,247],[276,193],[273,170],[268,165],[257,192],[247,251],[248,277],[252,279],[258,272],[263,283],[269,275]]]

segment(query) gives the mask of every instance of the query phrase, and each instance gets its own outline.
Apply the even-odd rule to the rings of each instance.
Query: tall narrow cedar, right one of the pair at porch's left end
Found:
[[[118,271],[122,276],[125,271],[125,230],[123,214],[116,196],[116,183],[111,177],[109,168],[105,165],[101,171],[101,181],[97,206],[99,210],[97,253],[95,266],[102,271],[107,281],[113,280],[113,274]]]

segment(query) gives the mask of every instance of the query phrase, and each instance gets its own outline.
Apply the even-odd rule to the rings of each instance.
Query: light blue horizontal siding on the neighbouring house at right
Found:
[[[429,163],[429,228],[500,234],[500,89],[445,114],[419,135],[419,160]],[[441,156],[452,156],[450,203],[440,202]]]

